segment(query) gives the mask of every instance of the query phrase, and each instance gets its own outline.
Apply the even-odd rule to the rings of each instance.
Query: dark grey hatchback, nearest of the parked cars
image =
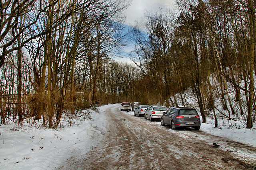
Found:
[[[194,127],[199,130],[201,126],[200,116],[196,109],[191,107],[171,107],[163,113],[161,125],[170,125],[172,129],[177,127]]]

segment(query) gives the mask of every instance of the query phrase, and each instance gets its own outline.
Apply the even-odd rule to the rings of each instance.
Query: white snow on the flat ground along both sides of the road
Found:
[[[31,125],[31,123],[24,122],[22,127],[13,122],[1,125],[0,169],[53,169],[69,158],[74,151],[79,150],[81,154],[85,154],[99,142],[103,133],[107,131],[104,111],[107,107],[112,106],[118,107],[120,104],[100,106],[99,113],[89,110],[90,116],[84,116],[83,113],[78,114],[79,116],[72,115],[69,117],[69,121],[62,122],[62,129],[58,129],[58,131],[44,129],[36,123]],[[132,111],[123,113],[134,114]],[[71,126],[70,121],[72,122]],[[157,123],[160,125],[160,122]],[[230,129],[225,126],[214,128],[214,125],[208,122],[202,123],[200,130],[256,147],[255,128]],[[98,138],[92,139],[93,135]]]

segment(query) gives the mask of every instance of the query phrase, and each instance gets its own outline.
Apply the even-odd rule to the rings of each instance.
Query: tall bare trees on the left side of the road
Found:
[[[29,117],[56,128],[64,111],[74,114],[99,100],[118,102],[126,83],[118,76],[125,68],[110,56],[125,45],[127,5],[123,0],[1,2],[1,123]]]

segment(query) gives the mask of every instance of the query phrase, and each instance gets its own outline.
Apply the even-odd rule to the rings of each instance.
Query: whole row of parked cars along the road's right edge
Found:
[[[122,103],[121,111],[131,111],[130,103]],[[129,107],[130,106],[130,107]],[[126,108],[125,108],[126,107]],[[144,119],[160,119],[161,125],[170,125],[171,129],[178,127],[193,127],[199,130],[201,126],[200,116],[192,107],[171,107],[165,106],[138,105],[134,107],[134,116],[144,116]]]

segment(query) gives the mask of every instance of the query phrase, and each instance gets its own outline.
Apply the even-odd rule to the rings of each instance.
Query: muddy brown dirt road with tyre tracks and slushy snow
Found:
[[[57,169],[92,170],[250,170],[256,169],[256,148],[194,129],[173,131],[120,111],[104,112],[108,129],[86,154],[73,154]],[[213,143],[220,145],[214,148]]]

